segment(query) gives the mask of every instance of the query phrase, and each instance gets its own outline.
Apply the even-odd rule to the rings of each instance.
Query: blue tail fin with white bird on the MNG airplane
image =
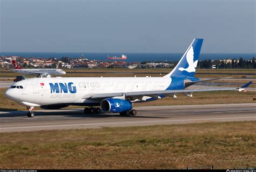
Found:
[[[194,77],[203,39],[194,39],[177,66],[164,77]]]

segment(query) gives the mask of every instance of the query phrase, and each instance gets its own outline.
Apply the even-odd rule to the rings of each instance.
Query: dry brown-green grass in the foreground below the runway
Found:
[[[0,168],[256,167],[256,121],[0,133]]]

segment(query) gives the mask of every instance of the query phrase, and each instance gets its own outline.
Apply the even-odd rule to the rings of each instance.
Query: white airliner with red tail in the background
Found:
[[[12,60],[12,71],[21,73],[24,75],[36,75],[36,76],[47,76],[47,75],[64,75],[66,72],[62,69],[23,69],[19,66],[19,64],[15,61]]]

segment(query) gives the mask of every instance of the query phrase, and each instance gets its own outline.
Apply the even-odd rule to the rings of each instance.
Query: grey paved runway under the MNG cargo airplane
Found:
[[[28,118],[26,111],[2,111],[0,132],[256,120],[255,103],[145,106],[135,109],[138,113],[134,117],[86,115],[83,109],[64,109],[36,110],[35,117]]]

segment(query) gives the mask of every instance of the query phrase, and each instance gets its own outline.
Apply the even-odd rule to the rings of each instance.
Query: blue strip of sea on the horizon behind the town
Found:
[[[81,55],[89,60],[107,60],[107,55],[109,56],[121,56],[122,53],[38,53],[38,52],[1,52],[0,56],[22,56],[24,58],[56,58],[60,59],[62,57],[69,58],[79,58]],[[183,53],[124,53],[127,56],[126,60],[116,60],[116,61],[127,61],[127,62],[142,62],[142,61],[178,61]],[[256,57],[256,53],[201,53],[199,60],[221,60],[221,59],[247,59],[251,60]]]

